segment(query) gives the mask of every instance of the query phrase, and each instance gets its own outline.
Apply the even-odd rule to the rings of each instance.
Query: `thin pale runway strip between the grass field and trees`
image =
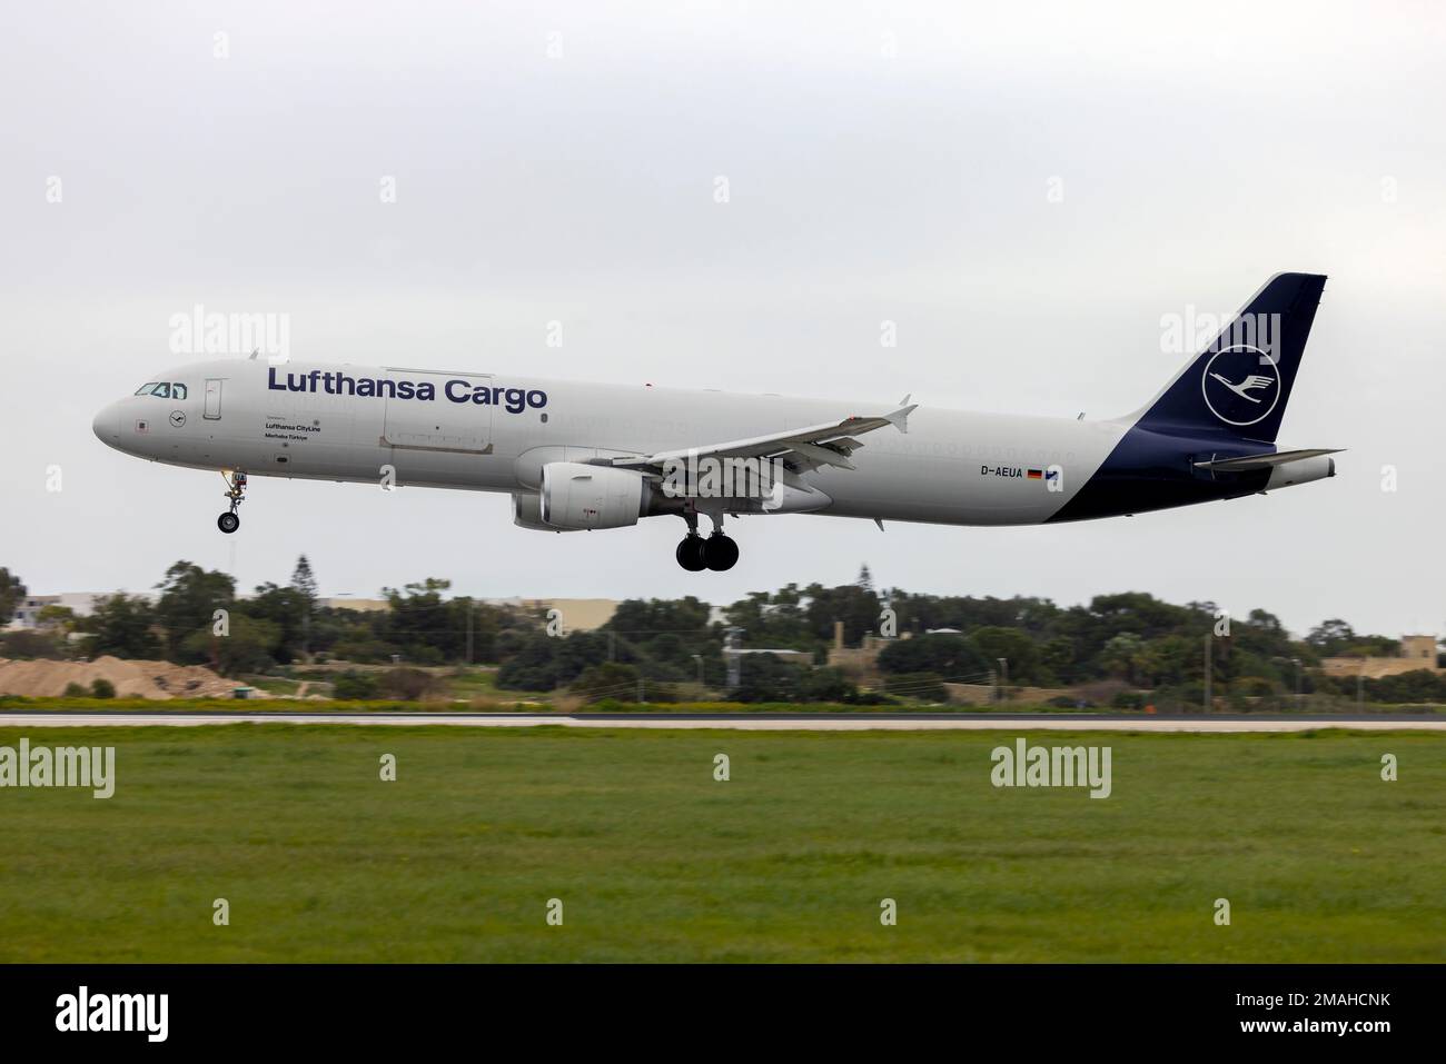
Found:
[[[1378,713],[1294,714],[1076,714],[1076,713],[197,713],[146,710],[0,713],[0,727],[200,727],[205,724],[348,724],[366,727],[629,727],[737,732],[1446,732],[1446,716]]]

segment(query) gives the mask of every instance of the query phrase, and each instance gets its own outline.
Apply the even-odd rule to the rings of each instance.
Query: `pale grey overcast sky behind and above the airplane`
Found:
[[[1446,629],[1439,4],[683,7],[10,4],[0,565],[143,590],[187,558],[250,588],[305,552],[325,594],[727,603],[868,562]],[[1281,444],[1349,448],[1338,477],[1134,519],[748,519],[733,571],[687,574],[674,519],[555,536],[506,496],[256,479],[223,536],[220,477],[91,434],[187,361],[197,304],[289,315],[294,359],[1112,416],[1184,361],[1163,315],[1278,270],[1330,275]]]

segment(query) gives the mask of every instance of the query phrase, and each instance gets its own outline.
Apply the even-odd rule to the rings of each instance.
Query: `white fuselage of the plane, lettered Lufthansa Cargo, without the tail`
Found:
[[[506,493],[536,492],[549,461],[683,450],[879,408],[878,400],[262,360],[194,363],[159,379],[184,385],[185,398],[136,395],[107,406],[95,418],[104,442],[153,461],[249,476],[375,484],[390,471],[403,486]],[[360,393],[376,390],[383,395]],[[863,437],[852,455],[856,468],[810,473],[827,502],[808,509],[946,525],[1044,522],[1128,428],[923,405],[907,432]],[[1056,474],[1038,476],[1051,467]]]

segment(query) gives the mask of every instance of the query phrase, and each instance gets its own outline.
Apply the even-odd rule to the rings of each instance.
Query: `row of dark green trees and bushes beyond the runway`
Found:
[[[230,675],[317,659],[492,664],[497,685],[515,691],[577,687],[590,697],[625,697],[642,682],[659,700],[669,685],[722,688],[730,629],[742,648],[803,651],[818,666],[836,625],[842,623],[852,646],[866,636],[881,638],[878,669],[885,688],[897,694],[934,694],[943,682],[991,679],[1192,690],[1203,685],[1207,655],[1210,679],[1220,691],[1333,691],[1336,684],[1314,672],[1322,658],[1392,655],[1397,646],[1387,636],[1358,635],[1339,619],[1294,639],[1265,610],[1232,619],[1213,603],[1178,606],[1135,591],[1067,607],[1022,596],[881,593],[866,568],[856,583],[840,587],[790,584],[753,593],[727,606],[723,622],[710,620],[709,604],[691,596],[629,600],[593,632],[568,632],[567,617],[450,596],[450,587],[428,578],[383,588],[388,609],[357,612],[320,601],[305,557],[286,584],[266,583],[246,597],[228,574],[178,561],[153,598],[117,594],[88,617],[52,607],[39,630],[9,633],[0,653],[165,658],[213,664]],[[0,623],[23,597],[23,583],[0,568]],[[1349,688],[1343,692],[1355,692],[1353,681]],[[1434,700],[1446,697],[1446,679],[1421,672],[1369,681],[1369,692],[1390,701]],[[745,656],[733,697],[860,698],[836,669],[800,668],[763,655]]]

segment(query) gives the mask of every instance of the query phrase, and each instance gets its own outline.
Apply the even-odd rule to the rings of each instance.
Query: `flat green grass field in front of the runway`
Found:
[[[22,736],[116,746],[117,785],[0,789],[6,961],[1446,956],[1434,736],[1030,736],[1109,745],[1103,801],[993,788],[1012,733],[265,724],[0,746]]]

